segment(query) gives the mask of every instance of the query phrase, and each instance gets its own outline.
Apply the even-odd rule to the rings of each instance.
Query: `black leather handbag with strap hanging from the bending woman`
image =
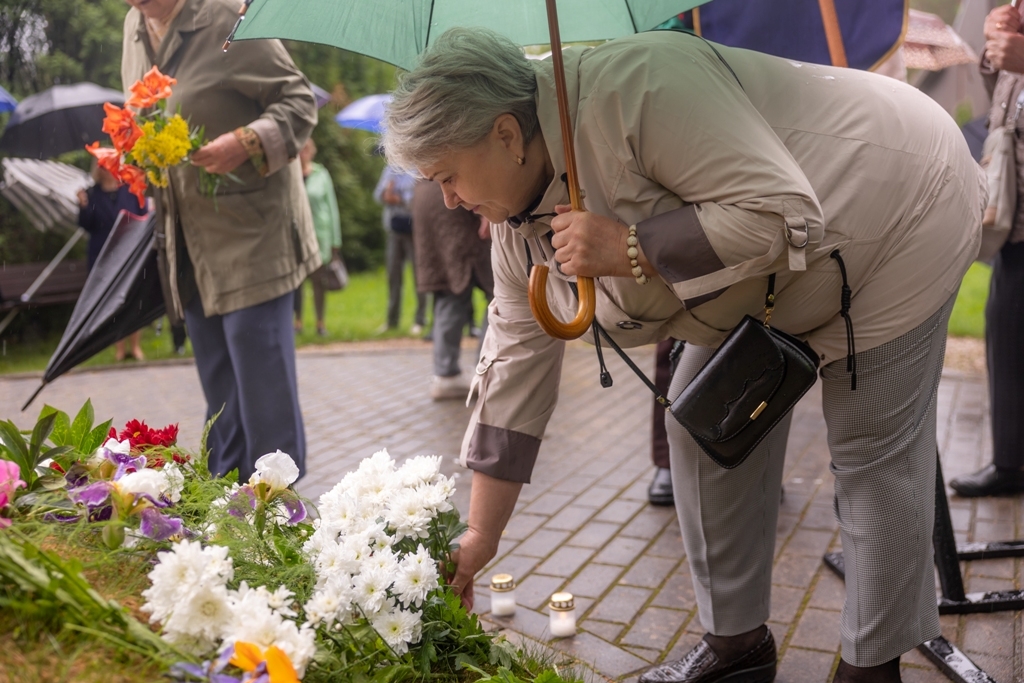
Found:
[[[844,296],[848,297],[845,268],[843,274]],[[768,276],[764,323],[744,315],[671,405],[596,323],[595,338],[597,333],[604,337],[712,460],[732,469],[746,460],[817,378],[817,353],[806,342],[769,326],[774,306],[772,274]],[[844,317],[848,308],[844,306]],[[599,340],[597,351],[601,384],[610,386]]]

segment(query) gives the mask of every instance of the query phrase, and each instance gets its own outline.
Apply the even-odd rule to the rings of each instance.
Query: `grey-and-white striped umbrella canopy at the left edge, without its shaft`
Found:
[[[3,160],[3,194],[42,232],[78,227],[78,190],[92,185],[80,168],[38,159]]]

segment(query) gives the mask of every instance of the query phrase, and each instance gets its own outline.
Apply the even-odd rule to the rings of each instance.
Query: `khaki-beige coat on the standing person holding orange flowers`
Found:
[[[178,80],[169,112],[180,106],[191,126],[205,126],[207,140],[250,127],[267,163],[266,177],[243,163],[232,171],[242,182],[224,180],[216,203],[200,191],[199,171],[189,164],[171,169],[170,187],[156,193],[167,236],[171,313],[180,313],[191,290],[182,271],[182,238],[207,315],[287,294],[321,263],[296,159],[316,125],[315,99],[281,41],[239,41],[224,52],[238,9],[238,0],[186,0],[156,53],[139,11],[125,17],[125,90],[156,65]]]

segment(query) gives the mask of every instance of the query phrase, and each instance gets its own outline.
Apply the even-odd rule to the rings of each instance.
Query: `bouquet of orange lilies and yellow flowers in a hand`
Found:
[[[103,132],[111,136],[114,147],[101,147],[98,141],[85,147],[100,167],[128,185],[139,204],[145,202],[147,185],[166,187],[168,169],[188,161],[188,156],[206,143],[202,127],[189,128],[180,113],[167,116],[166,99],[176,83],[156,67],[151,69],[132,84],[131,97],[123,108],[103,104]],[[142,114],[145,110],[151,111]],[[204,194],[212,196],[219,181],[220,176],[200,169]]]

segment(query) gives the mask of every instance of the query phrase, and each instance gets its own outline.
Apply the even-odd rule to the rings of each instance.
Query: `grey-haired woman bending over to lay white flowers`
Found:
[[[670,399],[744,314],[759,314],[774,274],[772,325],[823,365],[847,563],[836,680],[900,680],[900,655],[940,634],[935,394],[984,199],[963,136],[890,79],[692,35],[652,32],[563,55],[586,211],[567,206],[550,60],[453,30],[402,79],[387,114],[389,161],[494,224],[490,329],[461,455],[474,470],[469,530],[454,585],[472,605],[474,574],[496,553],[555,408],[564,342],[530,313],[531,264],[551,266],[548,297],[562,319],[577,309],[572,281],[586,275],[596,279],[596,319],[620,345],[685,339]],[[771,681],[765,623],[790,420],[732,470],[671,416],[667,426],[708,635],[640,680]]]

